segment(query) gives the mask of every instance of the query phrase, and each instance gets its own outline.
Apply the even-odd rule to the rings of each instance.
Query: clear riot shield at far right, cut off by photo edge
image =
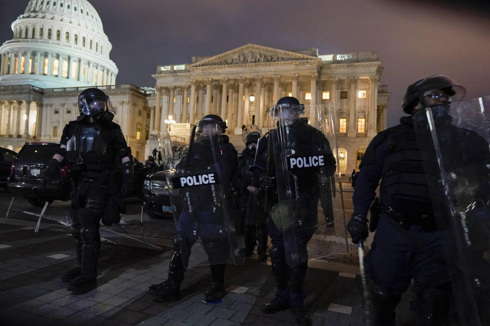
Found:
[[[431,140],[437,182],[428,182],[461,325],[490,324],[490,97],[425,108],[413,116],[419,143]],[[426,169],[426,175],[434,174]],[[428,179],[429,180],[429,179]]]

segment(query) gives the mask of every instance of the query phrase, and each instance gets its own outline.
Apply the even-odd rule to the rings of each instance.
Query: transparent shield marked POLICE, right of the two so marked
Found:
[[[277,184],[270,216],[283,234],[287,264],[346,253],[332,105],[274,105],[269,115]]]

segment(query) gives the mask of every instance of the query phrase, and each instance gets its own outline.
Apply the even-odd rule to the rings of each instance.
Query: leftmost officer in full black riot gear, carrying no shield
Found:
[[[80,116],[63,129],[60,146],[44,171],[44,184],[50,183],[60,163],[71,165],[71,234],[75,238],[78,266],[61,279],[69,282],[68,290],[83,294],[96,287],[101,219],[104,224],[117,223],[104,214],[106,202],[120,187],[122,196],[133,187],[133,161],[121,128],[112,122],[114,115],[109,96],[88,88],[78,98]],[[115,180],[114,169],[122,166],[122,185]],[[109,203],[107,206],[112,205]]]

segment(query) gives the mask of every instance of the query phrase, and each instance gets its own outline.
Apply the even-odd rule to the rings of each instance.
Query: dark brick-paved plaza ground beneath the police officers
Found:
[[[141,228],[136,199],[127,202],[125,222],[130,225],[103,228],[108,241],[102,246],[98,287],[83,295],[70,294],[60,275],[75,265],[74,242],[67,227],[51,221],[66,219],[68,202],[48,207],[35,233],[36,216],[20,210],[41,209],[16,198],[11,207],[15,210],[5,219],[11,199],[0,190],[0,325],[295,324],[290,311],[261,313],[260,307],[273,298],[275,285],[270,262],[259,262],[256,256],[240,266],[227,266],[228,293],[221,302],[210,304],[203,294],[211,282],[209,267],[204,265],[207,257],[196,250],[185,273],[181,300],[155,302],[146,290],[166,278],[174,224],[143,214]],[[358,261],[355,248],[351,249],[309,263],[305,293],[313,325],[365,323]],[[415,313],[408,308],[411,298],[407,291],[399,305],[399,325],[416,324]]]

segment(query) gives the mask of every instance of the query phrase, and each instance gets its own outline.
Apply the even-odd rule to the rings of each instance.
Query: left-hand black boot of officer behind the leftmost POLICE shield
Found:
[[[182,263],[179,244],[174,239],[174,253],[168,266],[168,279],[150,286],[149,293],[155,296],[155,302],[180,300],[180,283],[184,279],[185,269]]]

